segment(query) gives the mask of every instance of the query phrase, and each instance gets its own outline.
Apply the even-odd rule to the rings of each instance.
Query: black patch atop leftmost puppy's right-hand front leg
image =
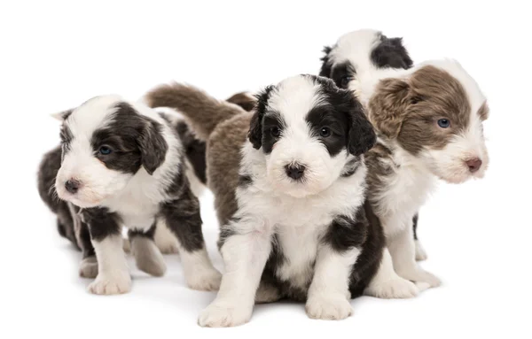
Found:
[[[200,201],[192,193],[188,181],[183,186],[181,196],[160,204],[160,218],[166,221],[184,250],[191,252],[205,247],[201,233]]]

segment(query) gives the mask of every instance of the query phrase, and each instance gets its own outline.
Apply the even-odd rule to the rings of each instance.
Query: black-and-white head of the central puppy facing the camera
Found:
[[[327,189],[375,143],[362,105],[328,79],[299,75],[257,95],[249,141],[272,187],[304,197]]]

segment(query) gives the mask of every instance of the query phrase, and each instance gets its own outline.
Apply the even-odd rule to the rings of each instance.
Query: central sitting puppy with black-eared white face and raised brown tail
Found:
[[[364,292],[417,293],[410,281],[389,279],[382,229],[364,204],[364,153],[375,135],[356,98],[312,75],[257,98],[250,113],[180,84],[146,96],[182,112],[207,140],[226,274],[200,325],[243,324],[254,303],[283,297],[306,301],[311,318],[339,320]]]

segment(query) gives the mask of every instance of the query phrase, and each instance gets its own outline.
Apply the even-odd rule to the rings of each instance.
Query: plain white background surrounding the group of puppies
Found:
[[[532,26],[524,6],[6,3],[0,5],[0,337],[532,336]],[[457,58],[489,98],[486,178],[442,184],[420,214],[419,237],[429,256],[423,266],[442,278],[442,287],[410,300],[361,297],[352,301],[355,314],[337,322],[309,320],[302,304],[261,305],[250,323],[232,329],[196,325],[215,293],[187,289],[177,256],[167,256],[163,278],[132,269],[128,295],[86,291],[90,281],[77,276],[81,255],[59,237],[35,188],[43,152],[59,142],[59,123],[50,113],[101,94],[137,99],[170,80],[220,98],[260,89],[317,73],[325,44],[366,27],[403,36],[415,62]],[[210,255],[221,269],[212,196],[201,202]]]

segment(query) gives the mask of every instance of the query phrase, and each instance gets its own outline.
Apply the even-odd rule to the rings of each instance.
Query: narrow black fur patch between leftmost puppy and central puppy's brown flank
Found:
[[[203,184],[207,183],[207,161],[205,142],[196,139],[192,134],[191,129],[186,122],[179,121],[176,125],[176,131],[184,145],[184,152],[186,158],[192,164],[194,174],[200,179]]]

